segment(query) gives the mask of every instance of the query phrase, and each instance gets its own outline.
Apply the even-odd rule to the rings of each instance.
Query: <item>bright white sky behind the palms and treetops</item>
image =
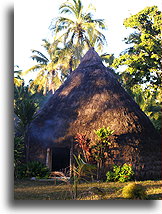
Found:
[[[65,0],[15,0],[14,2],[14,65],[27,70],[35,62],[30,58],[31,49],[45,54],[42,39],[52,38],[49,30],[51,20],[58,16],[59,5]],[[108,30],[106,52],[118,56],[127,48],[123,42],[130,29],[123,26],[123,20],[136,14],[146,6],[157,5],[162,10],[162,0],[82,0],[86,6],[96,7],[96,18],[105,19]],[[28,75],[26,79],[30,79]]]

